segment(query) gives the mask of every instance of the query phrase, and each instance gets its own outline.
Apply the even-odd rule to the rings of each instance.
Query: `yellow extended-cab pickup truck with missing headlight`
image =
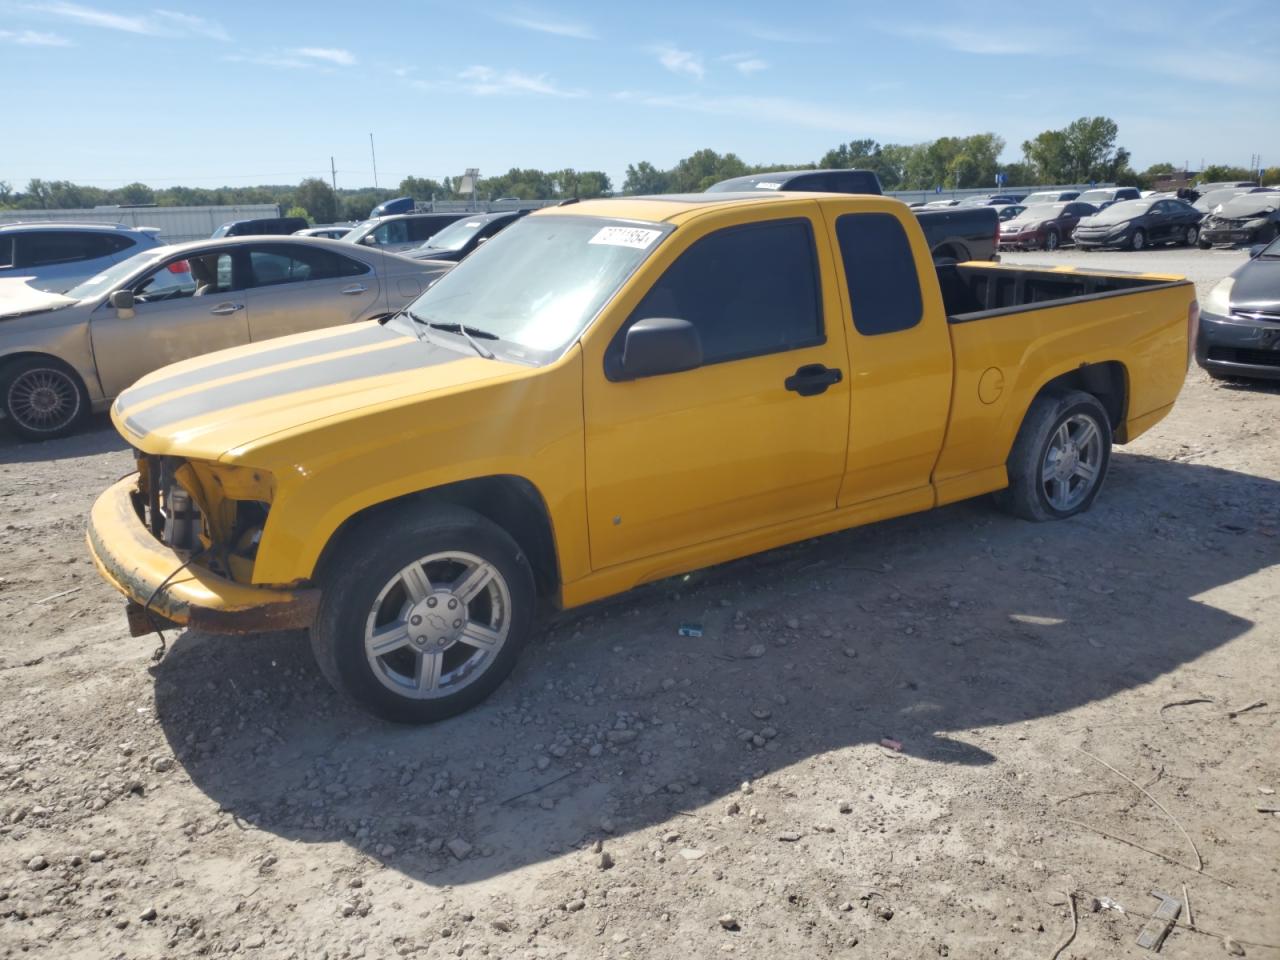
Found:
[[[436,721],[502,682],[540,599],[992,492],[1088,509],[1197,317],[1176,276],[934,265],[883,197],[559,206],[390,320],[145,376],[90,549],[134,632],[310,628],[340,691]]]

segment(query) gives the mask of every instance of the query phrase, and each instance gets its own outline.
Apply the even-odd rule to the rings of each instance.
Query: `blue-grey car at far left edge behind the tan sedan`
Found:
[[[134,253],[160,246],[155,227],[105,223],[0,225],[0,279],[61,293]]]

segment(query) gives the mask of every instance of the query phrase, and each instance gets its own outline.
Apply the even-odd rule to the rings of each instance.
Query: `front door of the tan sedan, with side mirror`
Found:
[[[239,250],[223,247],[173,257],[133,283],[131,317],[108,297],[90,320],[102,392],[115,397],[152,370],[248,343],[242,275]]]

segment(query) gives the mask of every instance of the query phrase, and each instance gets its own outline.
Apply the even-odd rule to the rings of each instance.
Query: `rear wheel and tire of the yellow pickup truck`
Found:
[[[1080,390],[1037,397],[1014,440],[1001,508],[1023,520],[1066,520],[1083,513],[1111,463],[1111,421],[1096,397]]]

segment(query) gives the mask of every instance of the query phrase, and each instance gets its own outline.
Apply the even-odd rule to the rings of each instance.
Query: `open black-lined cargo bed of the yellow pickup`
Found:
[[[1187,283],[1152,274],[1103,274],[986,264],[940,264],[937,270],[942,303],[947,311],[947,321],[952,324],[1019,312],[1032,305],[1062,306]]]

